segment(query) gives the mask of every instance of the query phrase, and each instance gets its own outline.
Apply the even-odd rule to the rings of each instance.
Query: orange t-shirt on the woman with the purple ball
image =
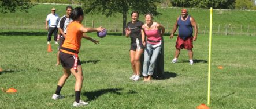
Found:
[[[78,22],[71,22],[66,29],[66,39],[62,45],[64,48],[69,48],[79,52],[81,46],[81,38],[83,37],[83,32],[80,32],[79,29],[83,26]],[[68,52],[66,50],[60,49],[61,52],[75,55],[75,53]]]

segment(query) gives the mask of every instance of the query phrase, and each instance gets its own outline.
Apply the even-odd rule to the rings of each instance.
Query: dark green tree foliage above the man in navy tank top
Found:
[[[171,0],[174,7],[234,9],[235,0]]]

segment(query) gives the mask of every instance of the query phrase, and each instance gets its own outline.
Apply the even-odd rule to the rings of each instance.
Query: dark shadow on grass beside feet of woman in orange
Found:
[[[88,98],[88,102],[92,101],[92,100],[96,100],[97,98],[99,98],[99,96],[104,95],[106,93],[112,93],[112,94],[117,94],[117,95],[121,95],[120,92],[123,90],[123,88],[109,88],[109,89],[100,89],[98,91],[91,91],[91,92],[83,92],[81,95],[84,95]]]

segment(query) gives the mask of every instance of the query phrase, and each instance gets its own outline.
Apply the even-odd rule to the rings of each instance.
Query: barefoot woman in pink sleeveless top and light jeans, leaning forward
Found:
[[[143,76],[144,81],[150,81],[151,75],[153,75],[155,69],[155,61],[162,49],[162,36],[165,33],[165,28],[157,22],[153,22],[153,14],[148,13],[145,15],[146,24],[142,26],[146,33],[146,42],[143,41],[143,45],[146,44],[144,51],[144,64],[143,64]]]

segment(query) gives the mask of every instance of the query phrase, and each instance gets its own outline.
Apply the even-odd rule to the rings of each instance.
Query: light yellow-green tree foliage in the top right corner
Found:
[[[236,9],[247,10],[253,9],[253,2],[250,0],[236,0]]]

